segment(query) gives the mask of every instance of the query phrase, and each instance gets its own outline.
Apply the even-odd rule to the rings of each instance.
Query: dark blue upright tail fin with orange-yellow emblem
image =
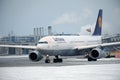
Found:
[[[95,29],[92,35],[100,36],[101,33],[102,33],[102,9],[99,10],[97,22],[96,22]]]

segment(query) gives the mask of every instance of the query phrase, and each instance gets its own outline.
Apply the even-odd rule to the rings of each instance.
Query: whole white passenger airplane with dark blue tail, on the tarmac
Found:
[[[105,47],[118,46],[120,42],[102,43],[102,9],[99,10],[95,29],[92,35],[80,36],[46,36],[37,46],[0,45],[0,47],[33,49],[29,53],[31,61],[40,61],[46,56],[45,63],[50,63],[49,56],[55,56],[54,63],[63,62],[59,56],[78,56],[87,53],[88,61],[97,61],[107,55]]]

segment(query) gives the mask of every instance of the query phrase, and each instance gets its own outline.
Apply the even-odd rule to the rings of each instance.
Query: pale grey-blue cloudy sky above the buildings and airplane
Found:
[[[52,26],[55,33],[88,34],[103,9],[103,34],[120,34],[120,0],[0,0],[0,36],[33,34]]]

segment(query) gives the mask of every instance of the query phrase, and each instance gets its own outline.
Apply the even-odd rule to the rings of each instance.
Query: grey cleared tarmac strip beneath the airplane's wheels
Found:
[[[100,64],[120,64],[120,58],[101,58],[97,61],[87,61],[79,56],[62,57],[62,63],[53,63],[53,56],[50,63],[45,63],[45,59],[38,62],[29,60],[28,55],[23,56],[0,56],[0,67],[22,67],[22,66],[72,66],[72,65],[100,65]]]

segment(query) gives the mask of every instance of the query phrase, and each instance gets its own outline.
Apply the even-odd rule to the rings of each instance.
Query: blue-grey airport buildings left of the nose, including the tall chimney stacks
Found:
[[[15,36],[8,35],[0,38],[0,44],[7,45],[36,45],[38,40],[44,36],[52,35],[52,27],[48,26],[48,32],[43,27],[34,28],[33,35]],[[0,55],[21,55],[28,54],[29,49],[19,48],[0,48]]]

